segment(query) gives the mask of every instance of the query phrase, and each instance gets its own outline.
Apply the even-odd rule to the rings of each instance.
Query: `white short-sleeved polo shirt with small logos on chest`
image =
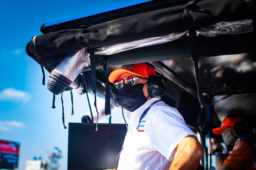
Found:
[[[175,108],[160,97],[148,100],[130,114],[118,170],[169,170],[174,149],[187,135],[195,135]],[[150,105],[139,124],[139,118]],[[139,124],[139,129],[136,129]]]

